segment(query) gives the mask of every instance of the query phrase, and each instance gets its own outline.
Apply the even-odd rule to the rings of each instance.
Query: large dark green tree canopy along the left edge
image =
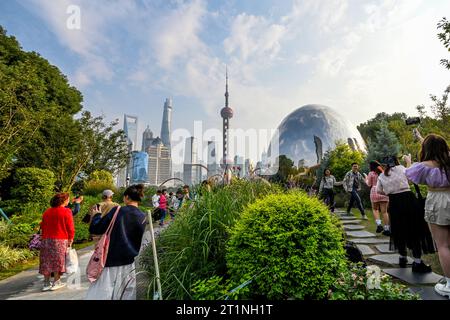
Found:
[[[0,26],[0,181],[14,168],[36,167],[69,191],[77,178],[124,167],[124,132],[83,111],[82,102],[57,67],[22,50]]]

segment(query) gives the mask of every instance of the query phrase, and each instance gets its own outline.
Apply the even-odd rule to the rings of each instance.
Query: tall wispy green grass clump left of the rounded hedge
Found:
[[[164,299],[192,298],[190,290],[197,280],[226,275],[225,244],[229,228],[247,204],[274,192],[281,190],[260,181],[241,180],[205,192],[197,201],[187,202],[156,243]],[[141,262],[153,276],[153,285],[155,270],[151,246]]]

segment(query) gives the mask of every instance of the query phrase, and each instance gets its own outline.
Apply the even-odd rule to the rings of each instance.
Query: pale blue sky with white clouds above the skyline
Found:
[[[173,129],[221,128],[226,66],[236,128],[275,129],[307,104],[355,126],[415,115],[450,84],[437,39],[446,14],[448,0],[0,1],[0,25],[60,68],[85,109],[137,115],[139,133],[155,135],[167,97]]]

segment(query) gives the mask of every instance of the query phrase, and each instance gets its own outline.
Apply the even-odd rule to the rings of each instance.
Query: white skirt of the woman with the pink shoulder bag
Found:
[[[91,283],[86,300],[136,300],[135,264],[103,269]]]

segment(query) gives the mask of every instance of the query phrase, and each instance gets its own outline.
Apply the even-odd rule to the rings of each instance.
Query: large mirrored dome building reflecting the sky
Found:
[[[324,154],[341,140],[353,149],[365,151],[361,134],[347,119],[335,110],[317,104],[300,107],[290,113],[278,127],[279,154],[286,155],[297,166],[318,163],[318,154]],[[317,152],[316,152],[317,151]]]

